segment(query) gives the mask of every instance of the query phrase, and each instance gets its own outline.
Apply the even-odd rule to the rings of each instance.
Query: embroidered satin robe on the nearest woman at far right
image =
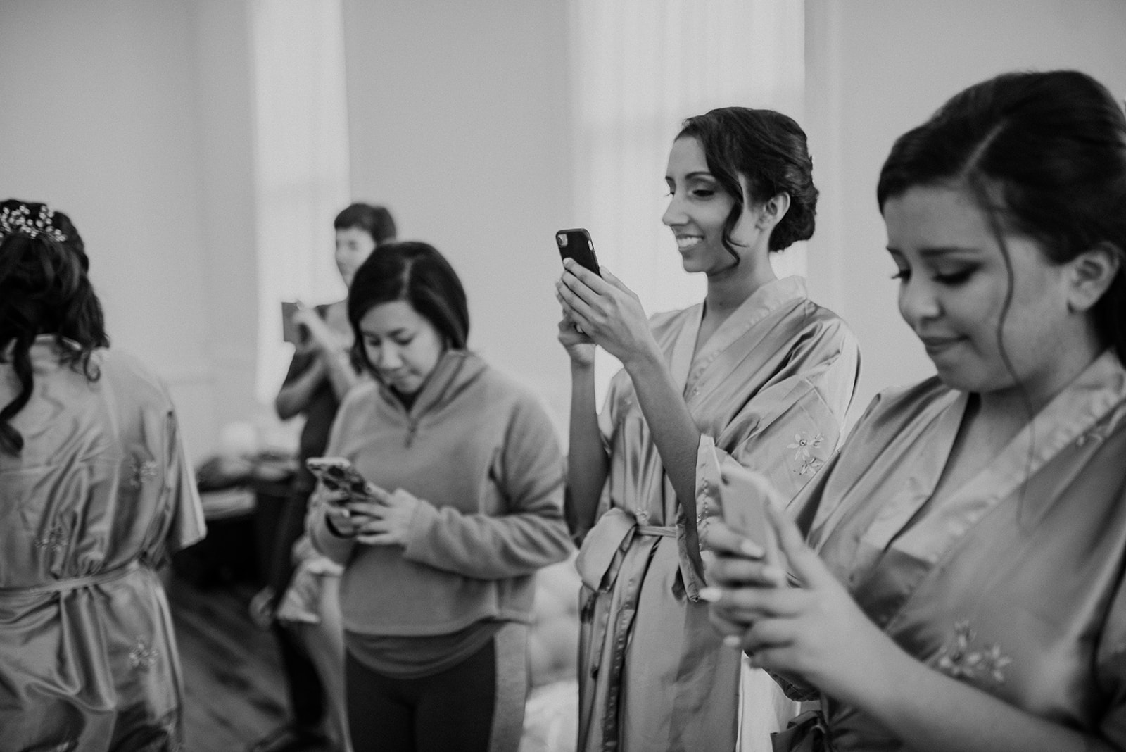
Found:
[[[877,396],[794,501],[798,521],[911,655],[1126,746],[1126,370],[1100,356],[932,502],[969,399],[937,378]],[[776,749],[908,749],[863,711],[822,704]]]

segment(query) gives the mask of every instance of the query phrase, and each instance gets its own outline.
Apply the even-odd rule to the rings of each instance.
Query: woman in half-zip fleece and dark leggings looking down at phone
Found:
[[[341,580],[356,750],[516,750],[536,570],[571,547],[563,462],[533,394],[466,350],[465,290],[431,245],[381,247],[348,294],[375,376],[328,454],[369,499],[321,490],[314,545]]]

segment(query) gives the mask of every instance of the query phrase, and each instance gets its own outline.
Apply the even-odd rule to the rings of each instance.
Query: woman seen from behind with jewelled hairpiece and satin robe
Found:
[[[108,350],[70,218],[0,203],[0,750],[182,749],[157,567],[203,538],[168,391]]]

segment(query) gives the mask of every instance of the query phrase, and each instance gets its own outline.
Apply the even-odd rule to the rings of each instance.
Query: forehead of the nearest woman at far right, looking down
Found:
[[[887,247],[904,253],[944,248],[985,250],[997,239],[985,212],[963,188],[917,186],[884,203]]]

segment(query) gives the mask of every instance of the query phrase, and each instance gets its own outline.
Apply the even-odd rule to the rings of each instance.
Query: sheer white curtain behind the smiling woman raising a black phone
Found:
[[[571,0],[575,222],[649,313],[697,303],[661,224],[664,168],[680,122],[714,107],[777,109],[802,122],[802,0]],[[805,249],[776,254],[805,274]],[[616,370],[598,352],[598,399]]]

